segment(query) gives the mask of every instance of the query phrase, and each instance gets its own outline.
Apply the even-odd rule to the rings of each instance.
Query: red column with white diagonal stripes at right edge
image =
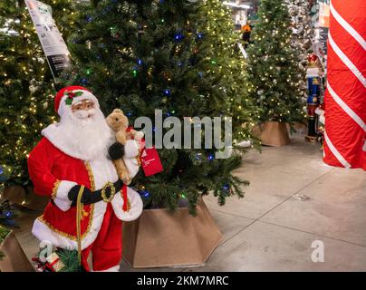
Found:
[[[366,170],[366,0],[332,0],[323,161]]]

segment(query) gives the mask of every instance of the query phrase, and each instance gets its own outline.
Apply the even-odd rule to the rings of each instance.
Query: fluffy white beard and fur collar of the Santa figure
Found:
[[[59,150],[79,160],[107,156],[114,142],[114,134],[99,108],[74,113],[67,110],[59,123],[48,126],[42,134]]]

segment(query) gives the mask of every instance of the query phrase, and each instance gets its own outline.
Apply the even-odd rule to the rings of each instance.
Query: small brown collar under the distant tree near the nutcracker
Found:
[[[265,121],[255,127],[253,134],[262,141],[262,145],[284,146],[290,144],[290,137],[284,122]]]

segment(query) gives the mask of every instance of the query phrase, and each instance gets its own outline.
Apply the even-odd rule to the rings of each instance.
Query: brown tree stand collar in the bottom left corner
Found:
[[[34,267],[25,256],[13,231],[0,244],[0,252],[5,255],[0,261],[1,272],[34,272]]]

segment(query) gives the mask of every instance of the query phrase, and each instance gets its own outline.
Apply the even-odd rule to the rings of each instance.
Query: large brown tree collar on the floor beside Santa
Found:
[[[203,265],[221,238],[203,200],[196,218],[188,208],[174,214],[145,209],[137,220],[123,223],[123,258],[135,268]]]

